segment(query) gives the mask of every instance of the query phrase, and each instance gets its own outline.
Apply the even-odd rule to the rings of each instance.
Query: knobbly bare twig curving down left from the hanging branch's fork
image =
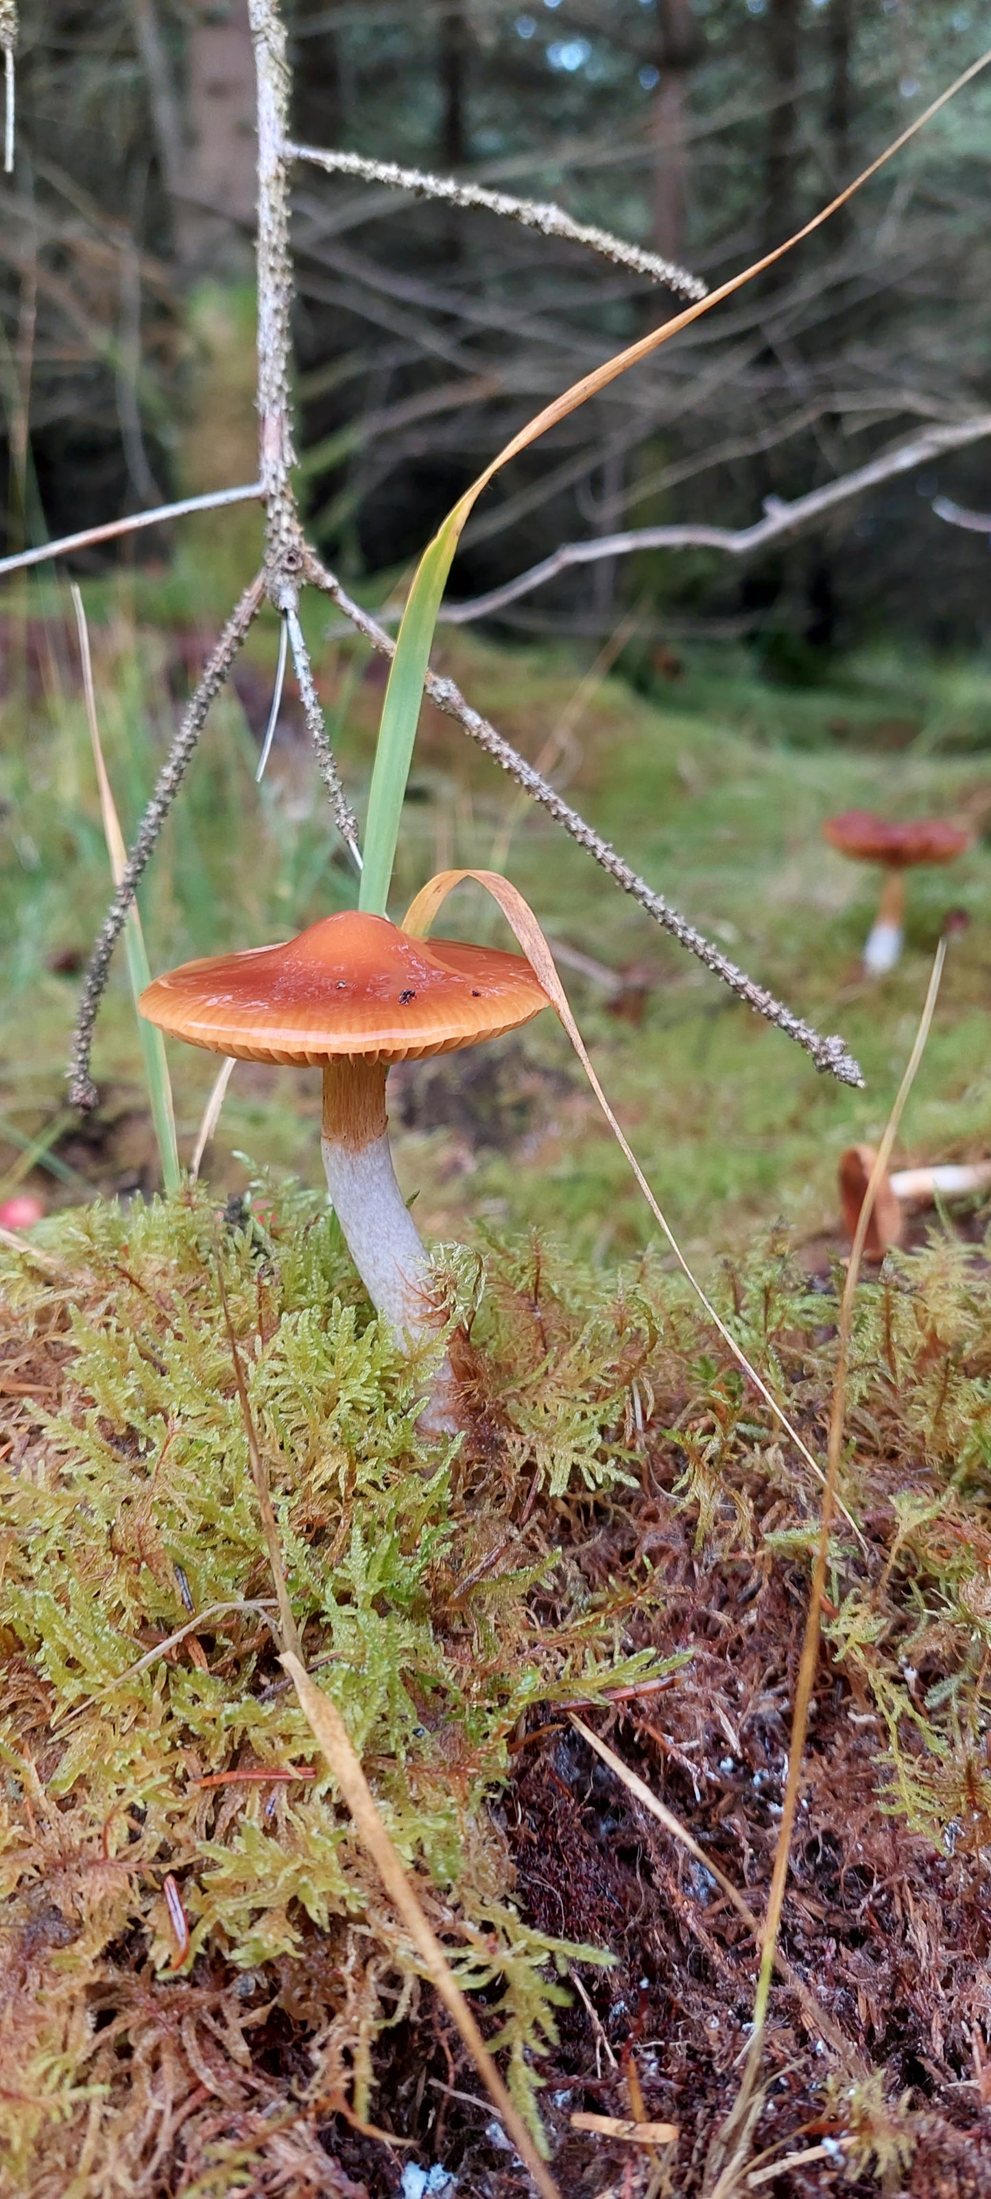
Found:
[[[169,809],[182,785],[187,763],[196,750],[196,743],[207,721],[207,710],[213,697],[224,686],[224,679],[244,642],[244,636],[264,603],[264,594],[266,594],[264,574],[257,574],[250,587],[244,589],[237,609],[231,614],[220,636],[220,642],[207,662],[200,686],[187,701],[180,730],[171,743],[163,770],[158,772],[158,785],[152,794],[145,816],[141,818],[138,836],[127,855],[127,869],[103,917],[103,926],[97,946],[92,950],[90,968],[86,972],[86,985],[79,1001],[79,1014],[73,1034],[73,1056],[68,1069],[70,1075],[68,1097],[73,1106],[81,1108],[97,1106],[97,1086],[90,1078],[90,1047],[92,1047],[92,1025],[97,1020],[97,1009],[108,981],[110,957],[121,937],[127,908],[132,906],[134,891],[145,871],[147,858],[152,855],[152,849],[158,840],[165,818],[169,816]]]

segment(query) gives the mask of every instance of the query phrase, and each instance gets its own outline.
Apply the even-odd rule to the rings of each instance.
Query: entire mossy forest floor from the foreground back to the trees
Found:
[[[314,1075],[240,1067],[202,1190],[134,1196],[156,1163],[121,974],[97,1034],[101,1106],[79,1126],[62,1097],[108,877],[55,609],[4,629],[0,743],[2,1192],[57,1209],[24,1253],[0,1251],[2,2199],[527,2190],[286,1693],[218,1269],[305,1658],[565,2199],[692,2199],[714,2186],[747,2047],[754,1931],[725,1885],[762,1915],[820,1487],[644,1251],[635,1185],[549,1018],[393,1089],[424,1234],[472,1245],[486,1275],[453,1458],[424,1456],[409,1372],[316,1190]],[[125,829],[202,655],[202,636],[138,609],[125,587],[92,607]],[[286,935],[349,895],[292,701],[253,785],[270,642],[215,710],[149,877],[152,968]],[[360,789],[380,675],[336,642],[319,662]],[[444,664],[655,886],[864,1064],[864,1093],[817,1078],[426,717],[396,910],[433,869],[505,866],[554,941],[622,979],[615,1016],[606,981],[565,965],[686,1251],[822,1456],[835,1163],[881,1132],[951,906],[971,921],[901,1152],[989,1150],[991,677],[864,660],[795,690],[666,653],[644,695],[565,651],[475,638],[444,638]],[[905,961],[870,990],[877,880],[822,842],[824,816],[853,805],[978,833],[954,871],[910,882]],[[450,928],[499,937],[468,888],[453,910]],[[189,1152],[213,1062],[176,1047],[169,1062]],[[738,2199],[991,2192],[989,1278],[973,1212],[918,1225],[859,1291],[789,1970]],[[571,2124],[639,2098],[679,2131],[653,2155]]]

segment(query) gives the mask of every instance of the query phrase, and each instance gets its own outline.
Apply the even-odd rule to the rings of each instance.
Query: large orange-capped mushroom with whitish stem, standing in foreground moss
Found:
[[[389,1067],[499,1038],[547,1005],[521,954],[455,939],[426,946],[360,910],[323,917],[283,946],[182,963],[141,994],[141,1014],[193,1047],[323,1069],[330,1198],[371,1304],[404,1350],[435,1337],[446,1311],[396,1183]],[[420,1425],[459,1425],[448,1355]]]

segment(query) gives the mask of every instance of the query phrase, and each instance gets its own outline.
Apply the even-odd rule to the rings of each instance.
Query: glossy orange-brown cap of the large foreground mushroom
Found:
[[[299,939],[211,954],[156,976],[141,1014],[240,1062],[341,1056],[409,1062],[514,1031],[547,1007],[523,954],[411,939],[387,917],[343,910]]]

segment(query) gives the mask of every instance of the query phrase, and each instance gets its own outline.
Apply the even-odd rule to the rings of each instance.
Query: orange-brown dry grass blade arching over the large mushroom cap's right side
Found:
[[[409,904],[407,915],[402,919],[402,928],[407,932],[413,932],[415,939],[424,939],[426,932],[431,930],[431,924],[433,924],[433,919],[435,919],[442,902],[448,897],[448,893],[464,877],[472,877],[479,886],[486,886],[486,893],[490,893],[492,899],[499,902],[499,908],[503,910],[505,921],[516,932],[516,939],[519,939],[519,943],[523,948],[523,954],[527,957],[534,974],[538,976],[538,981],[541,981],[541,985],[543,985],[543,990],[545,990],[552,1007],[556,1007],[556,1012],[558,1012],[558,1016],[560,1016],[560,1020],[565,1025],[565,1031],[567,1031],[567,1036],[569,1036],[569,1040],[571,1040],[571,1045],[574,1045],[574,1049],[578,1053],[578,1060],[580,1060],[580,1064],[584,1069],[584,1075],[589,1078],[589,1084],[591,1084],[591,1089],[595,1093],[595,1100],[598,1100],[598,1104],[600,1104],[600,1108],[602,1108],[602,1113],[606,1117],[606,1124],[609,1124],[609,1128],[611,1128],[611,1132],[613,1132],[620,1150],[626,1154],[626,1161],[633,1168],[633,1174],[635,1174],[635,1179],[639,1183],[639,1190],[644,1192],[644,1198],[646,1198],[646,1203],[650,1207],[650,1214],[653,1214],[657,1227],[664,1229],[664,1236],[668,1238],[668,1245],[670,1245],[670,1249],[675,1253],[675,1260],[677,1260],[681,1273],[686,1275],[686,1280],[690,1282],[690,1286],[692,1286],[699,1304],[705,1306],[705,1313],[708,1313],[710,1322],[714,1324],[714,1328],[723,1337],[723,1344],[727,1344],[727,1348],[732,1350],[732,1355],[736,1359],[736,1366],[743,1368],[747,1381],[754,1383],[754,1390],[762,1396],[762,1401],[769,1407],[769,1412],[773,1412],[776,1421],[780,1423],[780,1427],[784,1429],[784,1434],[791,1438],[791,1443],[795,1445],[795,1449],[802,1454],[804,1462],[811,1467],[811,1471],[815,1473],[815,1478],[820,1482],[826,1482],[826,1476],[824,1476],[820,1462],[813,1458],[809,1445],[802,1443],[802,1436],[798,1434],[798,1429],[791,1425],[791,1421],[787,1418],[787,1414],[778,1405],[778,1399],[771,1394],[771,1390],[767,1388],[767,1383],[762,1381],[762,1377],[749,1363],[747,1352],[736,1344],[736,1337],[730,1333],[730,1328],[725,1326],[725,1322],[716,1313],[714,1304],[705,1297],[705,1291],[703,1291],[701,1282],[697,1280],[697,1275],[688,1267],[688,1260],[686,1260],[686,1256],[681,1251],[681,1245],[677,1242],[677,1236],[675,1236],[668,1218],[661,1214],[661,1207],[657,1205],[657,1198],[655,1198],[655,1194],[653,1194],[653,1190],[650,1190],[650,1185],[648,1185],[648,1181],[644,1176],[644,1170],[642,1170],[642,1165],[639,1165],[639,1161],[637,1161],[637,1157],[633,1152],[633,1146],[628,1146],[628,1141],[626,1141],[626,1137],[624,1137],[624,1132],[622,1132],[622,1128],[620,1128],[620,1124],[617,1124],[617,1119],[613,1115],[613,1108],[609,1106],[609,1100],[606,1100],[606,1095],[602,1091],[602,1084],[600,1084],[600,1080],[598,1080],[598,1075],[595,1075],[595,1071],[591,1067],[591,1060],[589,1060],[582,1034],[580,1034],[580,1029],[576,1025],[576,1018],[571,1014],[571,1005],[569,1005],[567,992],[565,992],[565,987],[560,983],[560,976],[558,976],[558,970],[556,970],[556,963],[554,963],[554,954],[552,954],[552,950],[547,946],[547,939],[545,939],[545,935],[543,935],[543,930],[541,930],[541,926],[538,926],[538,921],[534,917],[534,910],[530,908],[530,902],[523,899],[523,895],[519,893],[519,888],[512,886],[508,877],[499,877],[497,871],[437,871],[437,877],[431,877],[428,884],[422,886],[420,893],[415,895],[415,899]],[[861,1548],[866,1548],[864,1535],[861,1535],[857,1522],[850,1517],[850,1513],[846,1511],[844,1504],[839,1504],[839,1511],[844,1513],[846,1524],[857,1535],[857,1541],[861,1544]]]

